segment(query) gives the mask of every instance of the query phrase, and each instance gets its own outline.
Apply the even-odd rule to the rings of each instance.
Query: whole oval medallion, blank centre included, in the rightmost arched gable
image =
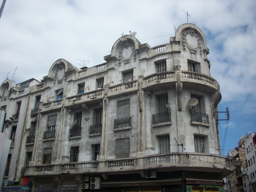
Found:
[[[182,46],[183,51],[186,51],[187,46],[188,49],[195,54],[199,49],[200,57],[202,57],[202,47],[200,38],[195,33],[195,30],[193,28],[189,28],[182,33]]]

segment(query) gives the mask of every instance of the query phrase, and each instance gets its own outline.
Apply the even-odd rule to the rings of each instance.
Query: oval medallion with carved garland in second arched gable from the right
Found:
[[[133,61],[136,61],[136,51],[134,44],[131,44],[128,40],[125,41],[124,45],[119,50],[119,66],[123,60],[124,63],[129,63],[133,57]]]

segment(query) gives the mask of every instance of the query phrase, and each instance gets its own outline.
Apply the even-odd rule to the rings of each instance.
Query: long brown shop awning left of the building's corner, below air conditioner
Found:
[[[157,185],[181,185],[181,178],[158,179],[143,181],[107,181],[101,182],[101,187],[135,187],[135,186],[157,186]]]

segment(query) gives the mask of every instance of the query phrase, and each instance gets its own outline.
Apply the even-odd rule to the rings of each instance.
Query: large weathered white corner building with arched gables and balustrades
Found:
[[[37,192],[223,190],[231,161],[219,150],[208,54],[202,31],[183,24],[153,48],[124,35],[101,65],[59,59],[24,89],[5,80],[4,132],[15,139],[6,180],[29,177]]]

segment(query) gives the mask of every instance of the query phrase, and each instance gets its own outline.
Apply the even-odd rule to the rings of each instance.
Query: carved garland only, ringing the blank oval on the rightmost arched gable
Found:
[[[187,35],[191,35],[192,37],[196,37],[197,39],[197,47],[196,48],[192,48],[188,45],[187,43]],[[185,30],[182,33],[182,46],[183,46],[183,51],[186,51],[186,45],[188,47],[188,49],[191,52],[197,53],[197,50],[199,49],[199,53],[200,53],[200,57],[202,57],[202,47],[201,47],[201,42],[200,42],[200,38],[198,37],[198,35],[195,33],[195,30],[190,28],[188,30]]]

